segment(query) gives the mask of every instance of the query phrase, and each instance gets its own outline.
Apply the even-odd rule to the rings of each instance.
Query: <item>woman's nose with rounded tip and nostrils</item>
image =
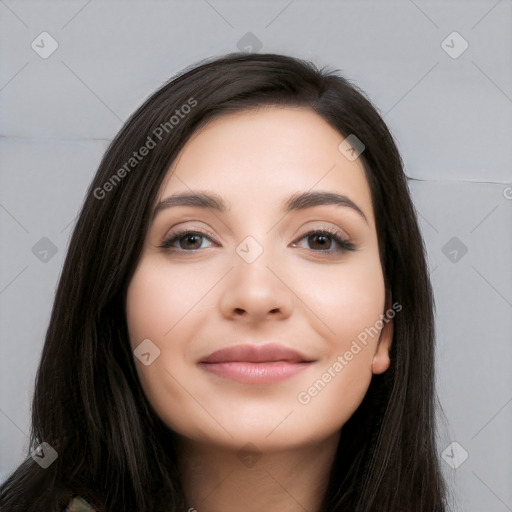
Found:
[[[238,254],[234,268],[224,280],[220,309],[225,318],[258,323],[288,318],[295,301],[293,283],[276,261],[264,251],[248,263]]]

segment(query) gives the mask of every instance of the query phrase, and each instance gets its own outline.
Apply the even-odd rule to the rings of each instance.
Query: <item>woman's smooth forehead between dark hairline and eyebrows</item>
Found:
[[[159,200],[200,189],[217,192],[228,205],[275,209],[294,193],[329,190],[350,197],[370,221],[364,167],[360,158],[351,161],[339,150],[344,139],[308,108],[225,114],[188,140],[169,169]]]

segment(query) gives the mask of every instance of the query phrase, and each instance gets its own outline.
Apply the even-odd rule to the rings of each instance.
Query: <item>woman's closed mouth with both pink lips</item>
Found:
[[[199,361],[206,372],[246,384],[272,384],[286,380],[315,362],[282,345],[237,345],[217,350]]]

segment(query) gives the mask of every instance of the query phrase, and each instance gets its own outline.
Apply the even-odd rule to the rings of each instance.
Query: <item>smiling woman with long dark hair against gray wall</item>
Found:
[[[230,54],[107,150],[2,510],[444,511],[433,296],[397,147],[333,71]]]

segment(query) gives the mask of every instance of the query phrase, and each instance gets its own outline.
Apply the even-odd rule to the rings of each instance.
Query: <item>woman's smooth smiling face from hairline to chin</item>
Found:
[[[371,195],[343,140],[309,109],[230,113],[196,132],[169,170],[157,203],[202,192],[225,205],[160,205],[128,289],[138,375],[173,431],[262,451],[319,442],[387,369]],[[288,209],[321,192],[347,199],[306,196]],[[258,352],[267,344],[284,352]],[[239,345],[256,350],[208,359]]]

